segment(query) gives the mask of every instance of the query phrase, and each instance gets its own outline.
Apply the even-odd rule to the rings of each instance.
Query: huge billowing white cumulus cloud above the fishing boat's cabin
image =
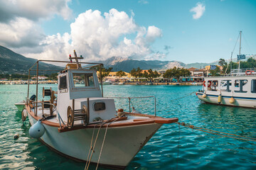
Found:
[[[151,45],[162,36],[159,28],[138,26],[132,16],[114,8],[103,15],[97,10],[80,13],[70,28],[70,33],[46,37],[41,42],[43,52],[26,56],[66,60],[73,50],[83,55],[86,61],[106,60],[109,57],[159,59],[164,56],[151,50]]]

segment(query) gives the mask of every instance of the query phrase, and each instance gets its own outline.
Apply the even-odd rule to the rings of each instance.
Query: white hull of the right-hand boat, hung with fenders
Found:
[[[218,102],[218,95],[213,94],[206,94],[206,98],[203,98],[203,93],[198,92],[196,93],[198,98],[201,101],[206,103],[214,103],[226,106],[238,106],[238,107],[245,107],[245,108],[256,108],[256,98],[250,97],[241,97],[241,96],[221,96],[221,102]],[[233,97],[235,99],[234,103],[230,103],[230,98]]]

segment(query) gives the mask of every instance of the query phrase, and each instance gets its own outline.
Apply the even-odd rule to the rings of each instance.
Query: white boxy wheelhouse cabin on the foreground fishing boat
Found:
[[[102,98],[95,70],[66,69],[58,74],[57,109],[64,122],[68,121],[68,106],[74,106],[73,110],[85,106],[90,111],[89,122],[95,118],[108,120],[116,114],[114,99]]]

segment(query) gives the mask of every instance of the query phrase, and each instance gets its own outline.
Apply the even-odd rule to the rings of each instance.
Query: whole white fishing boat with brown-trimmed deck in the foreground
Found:
[[[55,61],[38,60],[34,64],[37,65],[36,94],[28,99],[28,82],[26,110],[23,111],[24,115],[28,113],[32,125],[29,134],[70,159],[86,162],[86,169],[90,163],[124,169],[161,125],[175,123],[178,118],[158,117],[156,108],[154,115],[134,113],[131,98],[127,98],[129,111],[122,108],[116,111],[114,98],[103,97],[96,70],[81,66],[95,64],[93,67],[101,68],[102,64],[78,62],[82,57],[74,54],[65,69],[58,73],[58,90],[41,89],[45,100],[38,99],[38,65]],[[31,70],[32,67],[28,75]],[[77,79],[84,80],[84,84],[75,84]],[[156,106],[155,101],[154,98]]]

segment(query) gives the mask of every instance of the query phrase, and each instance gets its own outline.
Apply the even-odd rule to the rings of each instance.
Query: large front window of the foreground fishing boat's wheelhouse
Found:
[[[92,73],[73,73],[75,87],[95,86]]]

